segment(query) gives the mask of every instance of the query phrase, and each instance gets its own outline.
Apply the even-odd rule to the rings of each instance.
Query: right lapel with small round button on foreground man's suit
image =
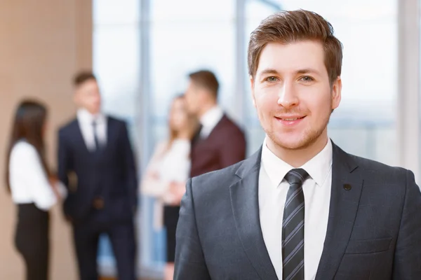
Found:
[[[328,230],[316,280],[333,279],[347,248],[359,207],[363,179],[353,158],[333,144]]]

